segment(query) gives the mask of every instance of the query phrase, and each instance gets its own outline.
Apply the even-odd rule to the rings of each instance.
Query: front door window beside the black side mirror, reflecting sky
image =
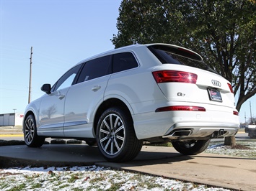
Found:
[[[54,85],[53,87],[53,91],[56,90],[61,90],[63,88],[67,88],[69,86],[72,85],[74,78],[76,77],[76,74],[79,72],[79,68],[81,67],[81,65],[77,65],[73,68],[71,68],[71,70],[69,70],[68,72],[66,72],[56,83],[56,85]]]

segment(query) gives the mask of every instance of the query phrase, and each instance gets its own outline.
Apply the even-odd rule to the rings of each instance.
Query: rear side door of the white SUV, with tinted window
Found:
[[[66,95],[63,127],[65,136],[94,137],[92,120],[110,78],[110,62],[109,55],[84,63],[77,83],[71,86]]]

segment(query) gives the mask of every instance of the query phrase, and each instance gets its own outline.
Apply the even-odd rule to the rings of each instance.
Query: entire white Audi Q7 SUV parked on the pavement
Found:
[[[53,72],[54,74],[54,72]],[[46,137],[97,143],[110,162],[134,159],[144,141],[182,154],[234,136],[239,116],[229,81],[197,53],[167,44],[131,45],[79,62],[25,110],[27,146]]]

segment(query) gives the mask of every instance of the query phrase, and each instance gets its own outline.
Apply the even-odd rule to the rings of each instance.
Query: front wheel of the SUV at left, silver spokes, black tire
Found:
[[[40,147],[45,142],[45,137],[37,136],[35,117],[32,114],[27,116],[23,126],[23,132],[25,144],[29,147]]]

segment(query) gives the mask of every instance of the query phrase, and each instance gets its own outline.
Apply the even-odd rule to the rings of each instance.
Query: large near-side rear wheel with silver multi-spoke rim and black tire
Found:
[[[120,108],[108,108],[97,124],[97,145],[109,162],[126,162],[141,151],[143,141],[138,140],[130,113]]]

